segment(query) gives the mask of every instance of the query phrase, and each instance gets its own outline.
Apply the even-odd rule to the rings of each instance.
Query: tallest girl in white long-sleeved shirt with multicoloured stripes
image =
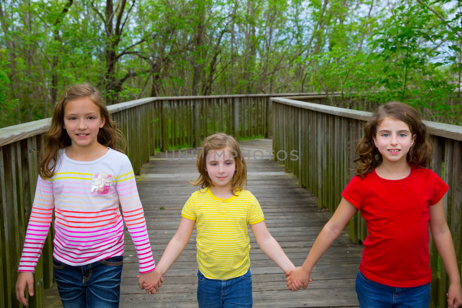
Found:
[[[156,290],[155,271],[125,140],[104,99],[88,84],[74,85],[55,106],[39,166],[36,194],[19,261],[16,296],[27,305],[33,272],[55,209],[53,267],[64,307],[118,307],[123,263],[123,219],[138,255],[140,280]],[[119,202],[122,213],[119,210]]]

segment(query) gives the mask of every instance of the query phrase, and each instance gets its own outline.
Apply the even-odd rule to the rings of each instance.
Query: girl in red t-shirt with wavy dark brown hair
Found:
[[[356,277],[359,307],[428,307],[429,224],[450,279],[448,307],[459,307],[462,288],[443,205],[448,186],[425,169],[432,143],[419,114],[398,102],[378,107],[365,125],[356,152],[356,176],[345,187],[337,210],[303,266],[286,273],[288,288],[306,289],[317,260],[360,209],[369,234]]]

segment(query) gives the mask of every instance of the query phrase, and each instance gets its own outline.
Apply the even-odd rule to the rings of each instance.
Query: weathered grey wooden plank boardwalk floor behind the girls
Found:
[[[247,160],[247,189],[260,202],[272,236],[295,266],[300,266],[331,214],[319,210],[316,197],[306,188],[299,188],[298,180],[285,173],[281,163],[272,160],[267,152],[272,148],[271,139],[248,140],[241,145],[244,157],[247,158],[248,151],[251,157]],[[264,159],[258,159],[261,157],[258,150],[264,153]],[[255,151],[257,159],[253,158]],[[191,154],[191,150],[187,153],[189,159],[180,160],[166,159],[165,153],[156,153],[137,177],[156,261],[175,234],[182,205],[197,189],[188,183],[198,175],[196,154]],[[172,157],[171,152],[168,154]],[[354,281],[362,246],[351,244],[347,229],[313,269],[313,282],[308,289],[298,292],[287,290],[284,273],[258,248],[250,228],[249,235],[254,307],[358,307]],[[195,251],[194,231],[183,253],[165,274],[159,293],[147,295],[138,288],[138,260],[125,231],[120,307],[198,307]],[[56,287],[45,290],[45,303],[46,307],[62,307]]]

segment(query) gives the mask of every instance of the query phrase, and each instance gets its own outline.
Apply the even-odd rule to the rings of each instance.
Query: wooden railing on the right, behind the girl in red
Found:
[[[310,101],[310,97],[298,97]],[[320,208],[334,212],[341,192],[354,176],[353,159],[357,141],[363,134],[363,123],[371,113],[306,103],[288,98],[272,98],[273,150],[298,151],[298,160],[286,159],[286,171],[298,177],[299,185],[308,188],[318,199]],[[459,271],[462,261],[462,127],[425,121],[435,145],[432,170],[441,176],[449,191],[444,196],[446,219],[456,248]],[[282,153],[282,152],[281,152]],[[280,154],[280,157],[283,157]],[[279,158],[280,158],[279,157]],[[350,239],[358,243],[367,236],[365,220],[356,213],[350,221]],[[447,307],[448,275],[438,252],[430,243],[432,269],[430,307]],[[460,272],[459,272],[460,274]]]

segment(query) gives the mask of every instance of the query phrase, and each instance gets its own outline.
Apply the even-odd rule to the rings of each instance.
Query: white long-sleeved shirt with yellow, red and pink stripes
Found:
[[[38,178],[18,272],[35,271],[53,208],[56,260],[82,266],[123,255],[125,220],[140,273],[156,268],[133,168],[125,154],[109,149],[94,161],[81,162],[61,149],[55,172],[49,179]]]

